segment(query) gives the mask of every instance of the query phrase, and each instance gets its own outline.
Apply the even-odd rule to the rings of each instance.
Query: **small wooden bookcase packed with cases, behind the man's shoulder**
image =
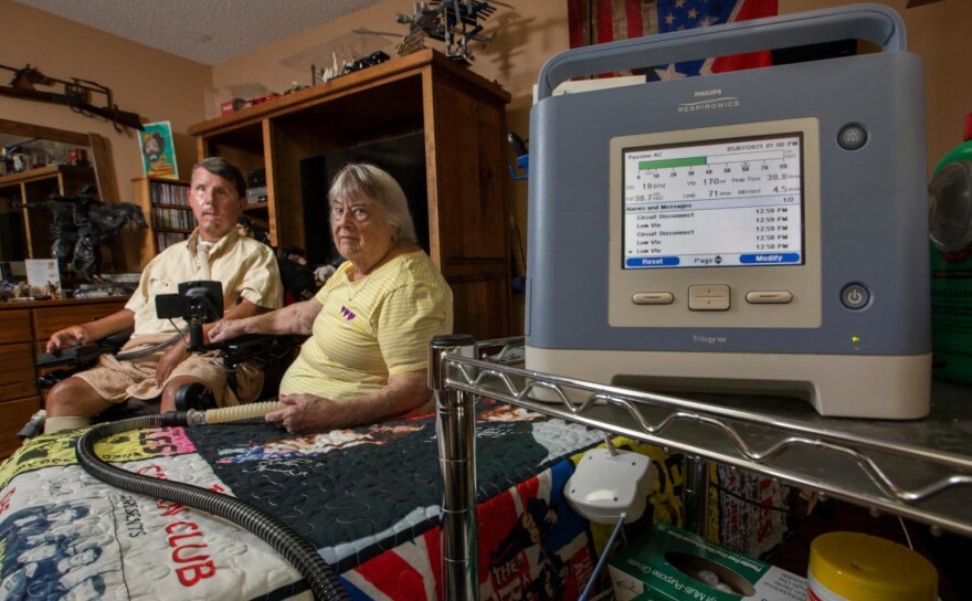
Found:
[[[131,180],[133,201],[141,208],[148,232],[141,244],[141,266],[177,242],[189,238],[196,229],[196,217],[189,207],[189,182],[142,177]]]

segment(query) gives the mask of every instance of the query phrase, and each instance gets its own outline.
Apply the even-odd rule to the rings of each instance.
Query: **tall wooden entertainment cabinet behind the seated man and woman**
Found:
[[[511,335],[507,94],[433,50],[394,59],[189,128],[200,158],[265,170],[252,208],[271,243],[331,261],[329,176],[369,160],[404,181],[416,230],[455,298],[455,330]],[[398,172],[395,172],[398,170]]]

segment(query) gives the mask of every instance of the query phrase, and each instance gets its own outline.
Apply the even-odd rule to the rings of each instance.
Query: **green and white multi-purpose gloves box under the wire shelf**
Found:
[[[667,524],[656,524],[609,568],[616,601],[806,599],[805,579]]]

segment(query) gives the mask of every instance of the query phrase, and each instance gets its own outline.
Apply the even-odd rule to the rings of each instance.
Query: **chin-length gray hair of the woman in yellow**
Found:
[[[409,212],[409,200],[398,181],[388,171],[367,162],[346,165],[335,176],[328,191],[331,203],[367,200],[381,209],[398,243],[418,244],[415,224]]]

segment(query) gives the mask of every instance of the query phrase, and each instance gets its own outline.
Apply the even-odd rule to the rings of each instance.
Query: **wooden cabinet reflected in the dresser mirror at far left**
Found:
[[[0,176],[0,260],[49,259],[53,214],[44,207],[52,193],[72,196],[95,186],[91,167],[55,165]],[[23,203],[35,204],[28,209]]]

